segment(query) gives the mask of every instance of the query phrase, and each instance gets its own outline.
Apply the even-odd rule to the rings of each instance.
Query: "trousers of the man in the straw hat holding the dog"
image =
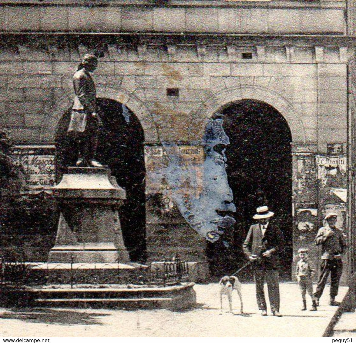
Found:
[[[265,280],[268,288],[268,299],[271,305],[271,311],[279,311],[279,284],[278,284],[278,270],[264,269],[256,267],[255,283],[256,283],[256,298],[259,310],[267,310],[265,290]]]

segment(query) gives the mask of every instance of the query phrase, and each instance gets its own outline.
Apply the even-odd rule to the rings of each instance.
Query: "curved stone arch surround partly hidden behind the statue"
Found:
[[[155,122],[153,121],[151,112],[147,109],[145,104],[140,99],[138,99],[134,91],[129,92],[122,88],[115,89],[111,87],[106,87],[104,85],[101,86],[99,84],[96,86],[96,96],[115,100],[117,102],[120,102],[120,104],[127,106],[140,121],[145,136],[145,142],[159,142],[157,127],[155,125]],[[73,91],[68,90],[67,92],[64,92],[61,99],[59,99],[59,106],[58,102],[56,103],[56,106],[52,110],[52,127],[54,126],[54,130],[56,129],[56,125],[63,113],[68,110],[70,106],[72,106],[72,102]]]

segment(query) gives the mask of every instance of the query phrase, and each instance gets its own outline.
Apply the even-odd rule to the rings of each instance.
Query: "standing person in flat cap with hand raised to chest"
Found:
[[[324,218],[325,226],[321,227],[315,238],[315,244],[321,245],[320,276],[314,296],[319,305],[319,298],[323,294],[326,280],[331,274],[329,305],[337,306],[335,301],[339,291],[339,282],[342,274],[341,254],[346,248],[344,234],[336,228],[337,213],[328,213]]]

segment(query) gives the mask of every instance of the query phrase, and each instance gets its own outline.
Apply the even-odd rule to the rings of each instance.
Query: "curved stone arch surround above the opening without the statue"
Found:
[[[271,105],[286,119],[292,133],[292,141],[307,141],[303,121],[293,105],[280,94],[258,86],[246,85],[236,88],[224,88],[206,101],[203,101],[195,114],[198,118],[204,119],[205,130],[206,124],[216,112],[239,100],[257,100]]]

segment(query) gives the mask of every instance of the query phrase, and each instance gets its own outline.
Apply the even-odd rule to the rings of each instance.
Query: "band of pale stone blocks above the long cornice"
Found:
[[[244,3],[244,1],[241,1]],[[344,34],[345,1],[241,2],[170,1],[169,6],[150,1],[46,2],[3,1],[1,31],[47,32],[220,32],[220,33],[334,33]],[[37,6],[36,6],[37,5]],[[41,6],[42,5],[42,6]],[[28,14],[31,13],[31,16]],[[56,20],[53,20],[56,18]]]

